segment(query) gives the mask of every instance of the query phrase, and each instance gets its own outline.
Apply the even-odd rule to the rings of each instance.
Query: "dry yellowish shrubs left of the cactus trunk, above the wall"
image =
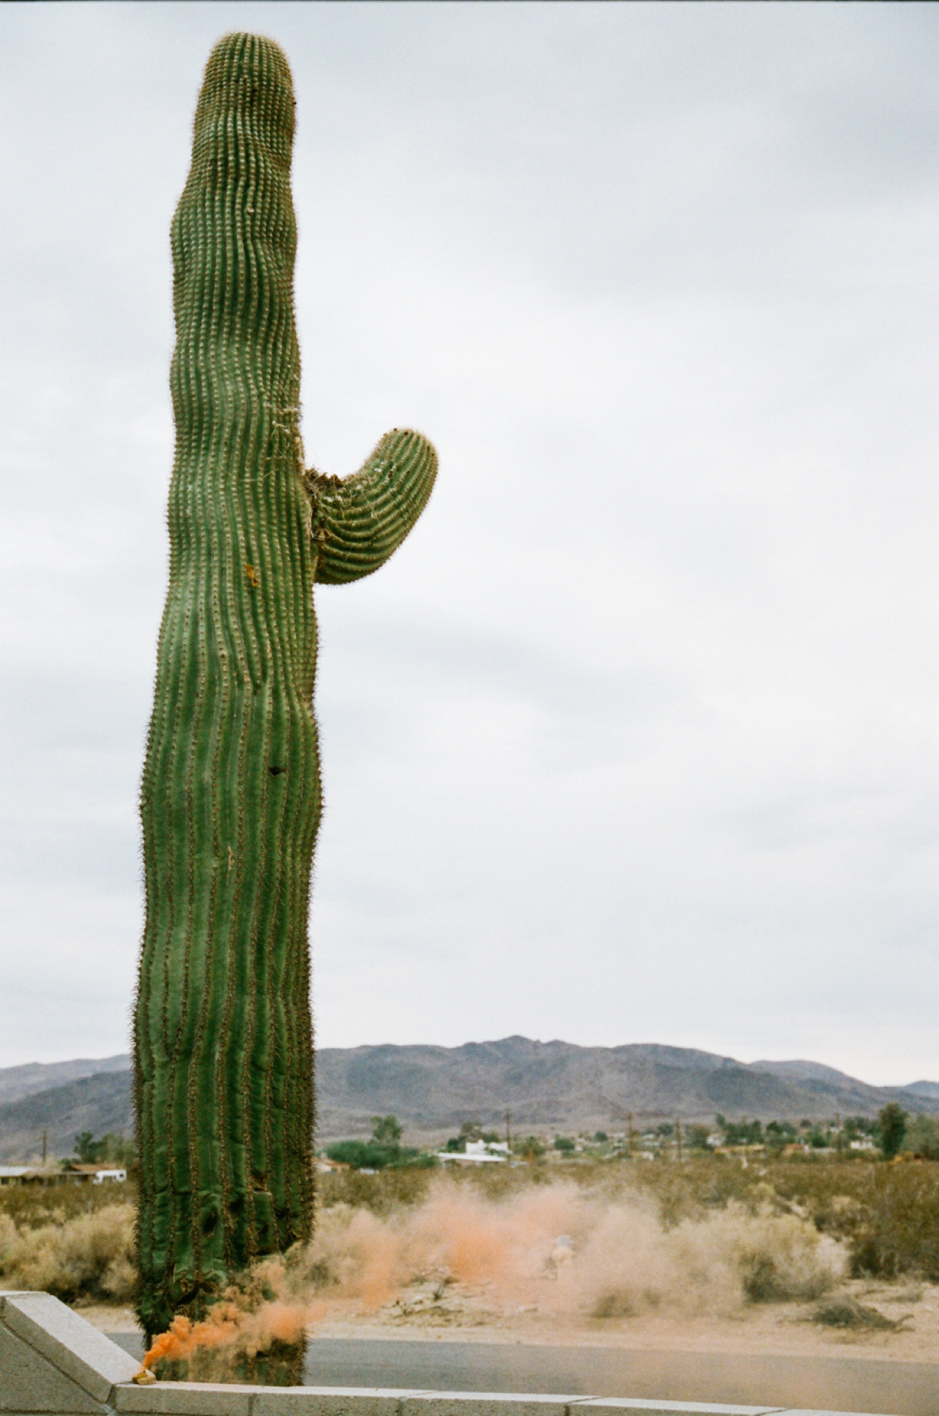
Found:
[[[0,1283],[44,1289],[65,1303],[129,1303],[135,1294],[133,1205],[102,1205],[72,1219],[17,1225],[0,1214]]]

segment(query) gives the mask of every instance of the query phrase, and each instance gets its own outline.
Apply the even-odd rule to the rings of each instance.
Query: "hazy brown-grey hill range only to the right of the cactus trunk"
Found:
[[[891,1100],[939,1112],[938,1096],[877,1087],[820,1063],[736,1062],[693,1048],[503,1038],[460,1048],[324,1048],[317,1056],[320,1134],[365,1134],[371,1117],[395,1112],[412,1136],[440,1134],[463,1120],[513,1130],[623,1130],[644,1119],[874,1116]],[[773,1070],[770,1070],[770,1068]],[[779,1072],[782,1070],[782,1075]],[[806,1075],[804,1069],[810,1069]]]

